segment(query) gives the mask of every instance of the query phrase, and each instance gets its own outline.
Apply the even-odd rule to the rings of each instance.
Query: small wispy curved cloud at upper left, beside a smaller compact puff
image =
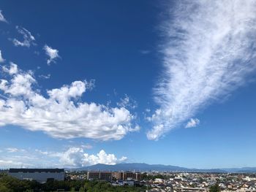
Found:
[[[18,47],[30,47],[31,45],[36,45],[34,41],[36,40],[34,36],[28,31],[26,28],[22,28],[16,26],[18,33],[23,36],[23,41],[19,41],[18,39],[12,39],[13,44]]]

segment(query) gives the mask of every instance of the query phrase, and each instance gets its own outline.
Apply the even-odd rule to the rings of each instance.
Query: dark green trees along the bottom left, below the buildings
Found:
[[[37,181],[18,180],[7,175],[0,175],[1,192],[36,192],[36,191],[146,191],[146,187],[113,186],[110,183],[88,180],[67,180],[38,183]]]

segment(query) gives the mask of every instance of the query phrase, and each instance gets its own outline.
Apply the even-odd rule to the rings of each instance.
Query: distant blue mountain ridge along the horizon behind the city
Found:
[[[229,169],[189,169],[181,166],[171,166],[162,164],[143,164],[143,163],[132,163],[132,164],[95,164],[92,166],[83,166],[75,170],[88,170],[88,171],[135,171],[135,172],[233,172],[233,173],[252,173],[256,172],[256,167],[243,167],[243,168],[229,168]]]

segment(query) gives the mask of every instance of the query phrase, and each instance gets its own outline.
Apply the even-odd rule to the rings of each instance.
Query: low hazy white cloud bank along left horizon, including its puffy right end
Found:
[[[8,147],[1,152],[0,169],[10,167],[79,167],[94,164],[118,164],[127,161],[127,157],[116,157],[114,154],[100,150],[97,154],[86,153],[81,145],[67,150],[47,151],[41,149],[20,149]],[[17,161],[18,160],[18,161]],[[7,163],[8,162],[8,163]]]

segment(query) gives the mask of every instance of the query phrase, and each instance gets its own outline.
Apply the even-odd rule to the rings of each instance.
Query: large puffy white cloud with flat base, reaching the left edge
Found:
[[[83,93],[91,88],[91,82],[75,81],[48,90],[47,96],[43,96],[36,88],[32,72],[23,72],[12,64],[5,76],[8,75],[0,80],[0,126],[21,126],[57,138],[104,141],[121,139],[139,129],[133,123],[135,117],[124,107],[80,101]]]

